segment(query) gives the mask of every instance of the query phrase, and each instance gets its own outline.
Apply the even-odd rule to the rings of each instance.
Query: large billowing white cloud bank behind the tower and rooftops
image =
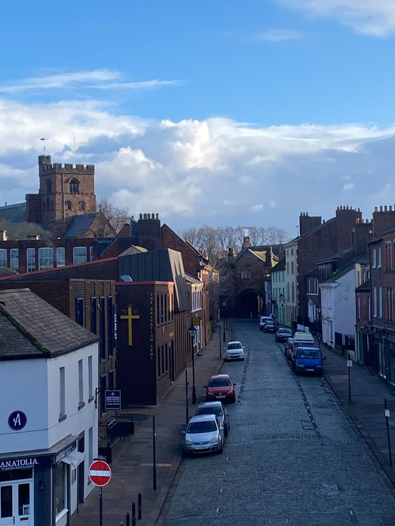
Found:
[[[300,210],[331,217],[352,180],[353,205],[368,216],[385,204],[372,194],[371,180],[382,181],[380,188],[393,182],[395,127],[153,122],[93,101],[0,100],[0,135],[1,204],[37,192],[40,137],[49,137],[46,147],[58,163],[74,162],[76,137],[77,162],[96,166],[98,197],[110,196],[131,214],[158,212],[176,228],[246,225],[260,211],[263,226],[293,231]],[[319,162],[329,157],[334,161]],[[274,219],[278,203],[287,206]]]

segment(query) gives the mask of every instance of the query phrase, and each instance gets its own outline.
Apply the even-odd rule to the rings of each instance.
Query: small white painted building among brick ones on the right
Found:
[[[341,347],[345,336],[354,335],[356,270],[353,261],[319,284],[323,342]],[[338,333],[336,337],[335,333]],[[341,336],[340,336],[341,335]]]

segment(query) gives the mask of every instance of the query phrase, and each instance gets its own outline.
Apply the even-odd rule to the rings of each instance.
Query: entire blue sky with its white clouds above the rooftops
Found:
[[[99,196],[175,227],[293,231],[300,210],[393,204],[395,2],[18,5],[2,5],[2,201],[37,191],[47,135],[63,162],[76,137]]]

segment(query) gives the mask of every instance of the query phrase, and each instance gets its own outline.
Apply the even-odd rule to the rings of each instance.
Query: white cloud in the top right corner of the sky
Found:
[[[393,0],[277,0],[309,15],[330,16],[357,33],[386,37],[395,31]]]

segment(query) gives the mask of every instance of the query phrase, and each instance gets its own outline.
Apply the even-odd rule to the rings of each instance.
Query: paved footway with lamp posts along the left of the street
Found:
[[[222,325],[221,325],[222,327]],[[226,331],[226,341],[231,341],[230,324]],[[191,403],[192,366],[188,368],[189,414],[193,416],[200,401],[204,401],[204,385],[211,375],[218,373],[223,366],[219,356],[219,326],[201,356],[195,356],[195,385],[197,403]],[[226,343],[222,341],[222,349]],[[138,502],[138,493],[142,493],[141,526],[153,526],[159,517],[165,499],[172,486],[175,474],[182,459],[182,431],[186,423],[185,376],[174,382],[171,390],[157,406],[133,407],[126,411],[140,416],[135,434],[124,441],[118,457],[111,464],[112,478],[103,488],[103,525],[119,526],[126,524],[126,512],[130,512],[131,503]],[[153,491],[153,451],[152,451],[152,415],[156,426],[156,463],[157,490]],[[137,417],[138,418],[138,417]],[[97,526],[99,523],[99,492],[95,488],[84,504],[80,504],[76,526]],[[136,510],[137,511],[137,510]],[[131,523],[131,521],[130,521]]]

